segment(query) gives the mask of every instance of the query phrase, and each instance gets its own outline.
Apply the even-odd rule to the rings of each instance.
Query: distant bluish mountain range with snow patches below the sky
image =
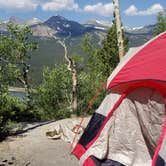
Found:
[[[59,15],[52,16],[44,22],[38,18],[32,18],[24,21],[12,16],[9,20],[0,22],[0,33],[4,33],[8,23],[20,26],[29,25],[34,36],[44,38],[51,37],[52,35],[55,37],[81,37],[87,32],[95,32],[99,36],[103,36],[103,34],[112,26],[111,22],[99,20],[90,20],[85,24],[80,24]],[[131,39],[131,46],[138,46],[145,43],[150,37],[152,37],[154,27],[155,25],[124,27],[124,31],[126,36]]]

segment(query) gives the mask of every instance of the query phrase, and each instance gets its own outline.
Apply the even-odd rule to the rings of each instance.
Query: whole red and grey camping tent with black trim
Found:
[[[166,166],[166,32],[128,51],[72,153],[83,166]]]

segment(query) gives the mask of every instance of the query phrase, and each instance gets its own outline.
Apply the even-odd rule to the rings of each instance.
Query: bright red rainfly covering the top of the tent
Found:
[[[165,47],[164,47],[165,46]],[[166,32],[141,48],[109,81],[108,89],[127,89],[139,82],[165,88],[166,81]],[[118,87],[121,86],[121,87]],[[115,88],[114,88],[115,87]]]

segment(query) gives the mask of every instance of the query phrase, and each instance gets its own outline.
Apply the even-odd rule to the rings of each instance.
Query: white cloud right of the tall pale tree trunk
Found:
[[[163,10],[164,8],[162,7],[162,5],[156,3],[151,7],[149,7],[148,9],[140,11],[137,9],[135,5],[131,5],[128,9],[124,11],[124,13],[128,16],[150,16],[150,15],[155,15]]]

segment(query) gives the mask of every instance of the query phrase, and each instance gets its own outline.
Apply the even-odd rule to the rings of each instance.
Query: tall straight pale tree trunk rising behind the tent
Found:
[[[115,23],[117,29],[117,39],[118,39],[118,48],[119,48],[119,60],[124,56],[124,39],[123,39],[123,31],[122,31],[122,23],[120,18],[120,10],[119,10],[119,0],[113,0],[114,3],[114,16]]]

